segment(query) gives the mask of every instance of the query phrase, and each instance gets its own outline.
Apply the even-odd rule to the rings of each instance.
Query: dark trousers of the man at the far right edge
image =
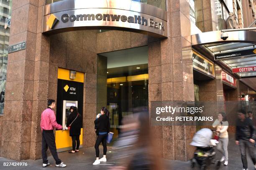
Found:
[[[254,143],[250,143],[248,140],[239,140],[239,146],[241,151],[241,159],[243,163],[243,168],[248,168],[248,163],[246,159],[246,149],[248,148],[248,153],[253,161],[253,165],[256,165],[256,155],[254,153]]]

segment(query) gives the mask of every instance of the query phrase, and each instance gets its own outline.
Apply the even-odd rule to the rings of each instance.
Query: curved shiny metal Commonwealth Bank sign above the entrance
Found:
[[[44,7],[42,32],[109,29],[168,37],[167,13],[130,0],[64,0]]]

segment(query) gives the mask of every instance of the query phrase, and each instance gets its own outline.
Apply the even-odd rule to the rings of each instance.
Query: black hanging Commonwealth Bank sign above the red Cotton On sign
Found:
[[[256,55],[256,48],[251,48],[249,50],[240,50],[233,52],[225,52],[220,54],[215,54],[214,60],[225,60],[249,55]]]

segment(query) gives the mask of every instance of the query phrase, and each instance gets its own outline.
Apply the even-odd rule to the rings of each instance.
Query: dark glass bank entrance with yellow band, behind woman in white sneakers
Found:
[[[137,110],[148,110],[148,47],[98,55],[97,112],[107,106],[111,130]]]

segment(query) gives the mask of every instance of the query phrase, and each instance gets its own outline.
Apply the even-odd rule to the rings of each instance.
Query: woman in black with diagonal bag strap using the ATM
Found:
[[[71,106],[70,107],[71,114],[67,119],[67,125],[69,126],[69,136],[72,138],[72,151],[69,153],[76,153],[79,152],[79,145],[80,145],[80,134],[82,128],[82,118],[79,112],[77,112],[77,107]]]

